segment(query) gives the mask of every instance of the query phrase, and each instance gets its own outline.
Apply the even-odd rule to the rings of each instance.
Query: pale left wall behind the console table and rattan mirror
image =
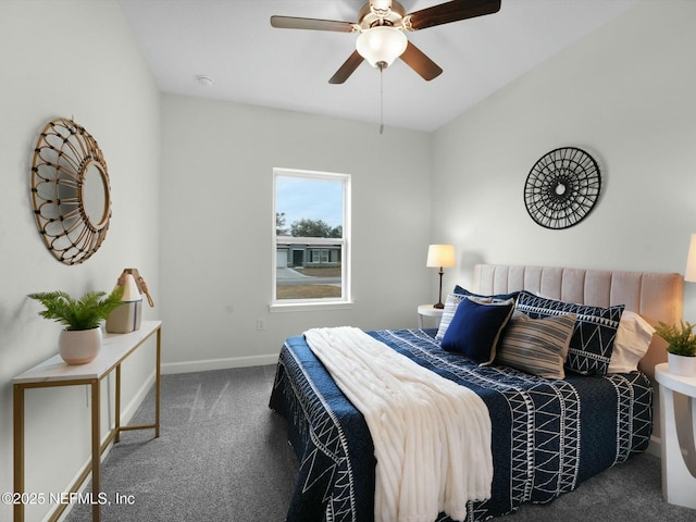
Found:
[[[137,266],[159,300],[159,94],[113,0],[0,1],[0,490],[12,490],[14,375],[54,355],[60,326],[26,294],[110,290]],[[113,217],[101,249],[82,265],[57,261],[37,232],[29,169],[39,132],[74,117],[98,140]],[[147,310],[156,316],[158,310]],[[124,364],[123,403],[151,380],[152,350]],[[26,489],[64,490],[89,456],[85,387],[27,393]],[[105,403],[103,408],[107,408]],[[52,506],[29,507],[41,520]],[[0,520],[12,508],[0,505]]]

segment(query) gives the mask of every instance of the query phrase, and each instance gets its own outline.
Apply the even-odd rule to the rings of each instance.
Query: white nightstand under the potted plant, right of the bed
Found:
[[[662,437],[662,496],[664,500],[678,506],[696,508],[696,476],[689,471],[696,470],[696,455],[692,440],[684,456],[679,444],[674,395],[676,391],[689,397],[691,419],[696,430],[696,376],[686,377],[670,373],[666,362],[655,366],[655,378],[660,383],[660,434]],[[696,438],[696,436],[695,436]],[[687,459],[688,464],[684,459]]]

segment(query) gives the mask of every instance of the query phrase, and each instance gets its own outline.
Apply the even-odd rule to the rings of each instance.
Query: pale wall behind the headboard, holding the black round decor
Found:
[[[434,134],[433,233],[462,252],[448,286],[476,262],[684,272],[696,229],[694,20],[696,2],[641,2]],[[523,188],[563,146],[598,161],[601,196],[583,222],[549,231],[527,215]]]

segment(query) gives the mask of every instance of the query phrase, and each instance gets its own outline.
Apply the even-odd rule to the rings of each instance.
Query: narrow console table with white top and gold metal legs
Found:
[[[121,363],[137,350],[152,334],[157,333],[157,362],[156,362],[156,401],[154,423],[139,426],[121,425]],[[89,476],[91,471],[92,496],[98,498],[100,492],[100,463],[101,455],[111,444],[119,442],[121,432],[127,430],[154,430],[154,436],[160,436],[160,363],[161,363],[162,322],[142,321],[140,328],[128,334],[104,334],[103,344],[99,355],[87,364],[70,365],[63,362],[60,356],[37,364],[12,380],[13,385],[13,421],[14,421],[14,493],[24,492],[24,390],[27,388],[49,388],[54,386],[87,385],[91,388],[91,463],[82,471],[70,493],[76,493],[79,486]],[[114,426],[109,431],[103,442],[100,440],[100,383],[102,378],[115,370],[115,419]],[[51,513],[51,521],[58,520],[64,504]],[[99,502],[92,502],[92,521],[99,521]],[[24,505],[14,505],[14,521],[24,521]]]

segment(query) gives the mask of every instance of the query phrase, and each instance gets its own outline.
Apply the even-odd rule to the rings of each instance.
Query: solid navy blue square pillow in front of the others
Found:
[[[512,315],[514,301],[481,303],[463,299],[445,332],[440,346],[461,353],[476,364],[489,364],[496,358],[500,332]]]

